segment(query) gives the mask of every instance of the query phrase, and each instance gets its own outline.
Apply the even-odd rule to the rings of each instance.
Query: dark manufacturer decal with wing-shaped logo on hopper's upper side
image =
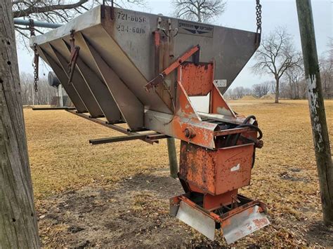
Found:
[[[197,22],[178,21],[178,32],[195,36],[213,37],[214,26],[202,25]]]

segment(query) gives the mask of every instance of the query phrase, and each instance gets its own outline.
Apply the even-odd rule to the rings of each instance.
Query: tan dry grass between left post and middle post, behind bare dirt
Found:
[[[37,200],[168,166],[165,141],[91,146],[89,139],[123,134],[65,111],[25,109],[25,123]]]

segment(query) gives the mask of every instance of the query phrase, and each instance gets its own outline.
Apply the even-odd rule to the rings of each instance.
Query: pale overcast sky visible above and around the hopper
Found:
[[[147,0],[149,8],[140,11],[150,13],[162,13],[171,15],[171,1]],[[215,25],[256,30],[255,0],[228,0],[226,12],[214,20]],[[294,43],[297,49],[301,50],[299,38],[299,24],[297,20],[295,0],[261,0],[263,6],[263,35],[272,32],[275,27],[285,26],[287,31],[294,36]],[[333,36],[333,0],[312,0],[313,17],[315,21],[315,34],[317,39],[318,54],[322,55],[327,51],[329,37]],[[20,72],[33,72],[32,53],[19,45],[18,61]],[[273,80],[270,75],[257,76],[252,74],[250,67],[254,60],[250,60],[237,79],[235,86],[251,87],[254,83]],[[42,69],[43,70],[43,69]],[[44,69],[46,72],[46,69]]]

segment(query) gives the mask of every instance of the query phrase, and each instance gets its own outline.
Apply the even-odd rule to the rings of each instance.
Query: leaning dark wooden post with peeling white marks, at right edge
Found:
[[[329,135],[325,116],[324,99],[315,45],[315,28],[311,0],[296,0],[303,61],[308,83],[308,103],[311,114],[315,158],[317,161],[322,214],[324,223],[333,225],[333,166],[329,149]]]

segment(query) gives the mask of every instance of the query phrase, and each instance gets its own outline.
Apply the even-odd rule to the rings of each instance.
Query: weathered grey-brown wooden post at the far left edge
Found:
[[[0,248],[39,248],[11,0],[0,1]]]

